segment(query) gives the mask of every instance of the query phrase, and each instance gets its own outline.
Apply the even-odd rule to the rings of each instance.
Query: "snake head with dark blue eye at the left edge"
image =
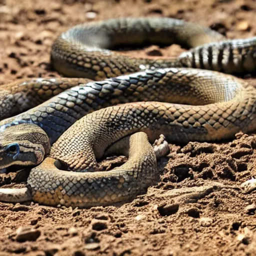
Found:
[[[0,169],[39,164],[49,149],[47,134],[35,124],[0,126]]]

